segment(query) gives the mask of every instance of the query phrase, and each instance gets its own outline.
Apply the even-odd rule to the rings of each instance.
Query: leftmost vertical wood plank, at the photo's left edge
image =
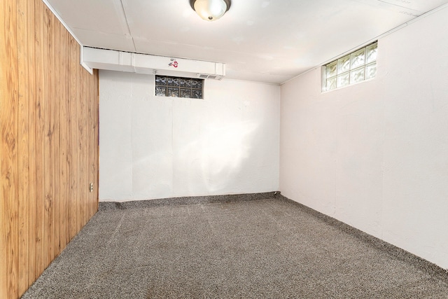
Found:
[[[1,244],[0,292],[18,297],[18,53],[15,0],[1,2]]]

